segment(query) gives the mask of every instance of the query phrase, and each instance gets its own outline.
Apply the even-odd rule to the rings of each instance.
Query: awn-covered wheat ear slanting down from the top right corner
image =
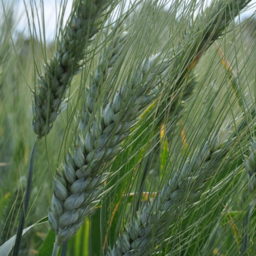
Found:
[[[179,45],[179,49],[182,49],[183,46],[185,46],[186,49],[187,45],[192,45],[189,48],[189,52],[182,51],[179,54],[179,61],[176,63],[174,62],[173,73],[176,71],[175,68],[180,63],[182,63],[183,70],[182,67],[179,67],[179,70],[182,71],[176,71],[176,74],[173,74],[170,81],[172,83],[173,90],[171,90],[171,93],[170,91],[167,92],[166,95],[169,99],[162,102],[158,110],[158,115],[163,117],[163,114],[168,111],[166,102],[172,101],[171,99],[173,95],[175,95],[175,92],[177,92],[181,85],[183,85],[186,77],[193,70],[203,52],[222,35],[223,30],[225,30],[228,23],[251,1],[252,0],[227,0],[224,2],[215,2],[211,4],[211,6],[207,7],[202,14],[198,14],[195,21],[191,22],[193,26],[189,27],[188,33]],[[206,26],[202,27],[202,23],[206,24]],[[202,38],[199,43],[198,38]],[[178,65],[176,66],[175,64]]]

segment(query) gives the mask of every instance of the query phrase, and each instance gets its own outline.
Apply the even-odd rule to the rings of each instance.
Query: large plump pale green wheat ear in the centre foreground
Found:
[[[119,47],[123,47],[122,44]],[[108,63],[113,62],[110,60]],[[97,69],[90,88],[86,89],[74,155],[68,155],[54,180],[49,222],[56,233],[55,247],[76,234],[85,216],[95,206],[92,202],[102,192],[105,164],[121,150],[119,145],[129,135],[140,110],[155,99],[151,92],[155,84],[153,86],[149,81],[162,65],[155,57],[145,60],[130,83],[119,87],[108,103],[103,102],[95,109],[100,90],[99,77],[104,76],[101,70],[106,70],[106,66]],[[163,69],[166,69],[165,65]]]

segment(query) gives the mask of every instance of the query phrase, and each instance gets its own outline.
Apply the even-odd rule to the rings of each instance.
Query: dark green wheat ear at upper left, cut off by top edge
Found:
[[[34,92],[33,129],[39,138],[47,135],[57,116],[67,107],[65,95],[85,58],[85,47],[107,19],[104,11],[112,0],[78,1],[58,40],[54,57],[45,63]]]

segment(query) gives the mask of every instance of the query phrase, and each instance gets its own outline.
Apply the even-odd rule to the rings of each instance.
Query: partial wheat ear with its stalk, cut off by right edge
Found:
[[[249,156],[244,156],[244,167],[248,175],[248,190],[253,196],[252,202],[247,210],[244,220],[244,236],[241,248],[241,255],[246,255],[246,248],[249,241],[250,217],[256,202],[256,140],[251,138],[251,147],[249,148]]]

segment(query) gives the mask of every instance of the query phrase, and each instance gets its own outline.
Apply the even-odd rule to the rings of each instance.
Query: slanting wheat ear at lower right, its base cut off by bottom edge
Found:
[[[106,255],[141,256],[150,248],[149,244],[155,245],[162,233],[163,225],[160,225],[162,215],[172,216],[181,202],[188,205],[202,194],[204,183],[212,177],[217,170],[216,164],[220,163],[221,157],[227,152],[222,146],[228,134],[229,127],[217,134],[211,143],[206,143],[193,157],[187,158],[182,169],[173,175],[158,195],[140,208],[135,214],[135,219],[131,218],[113,249],[109,249]],[[209,168],[210,165],[214,166]],[[169,219],[171,222],[175,221]]]

